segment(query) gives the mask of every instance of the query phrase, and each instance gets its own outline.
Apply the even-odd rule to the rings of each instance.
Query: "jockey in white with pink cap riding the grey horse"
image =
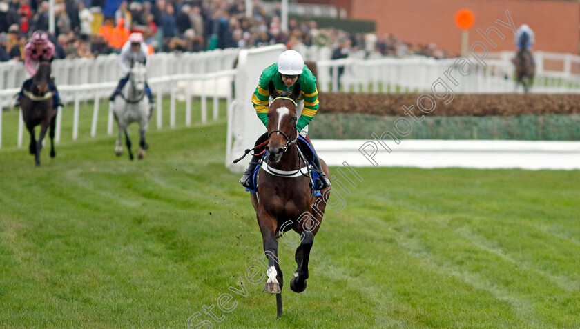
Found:
[[[121,90],[129,81],[129,72],[131,72],[131,61],[139,61],[144,64],[145,67],[148,66],[148,48],[146,43],[143,42],[143,34],[132,33],[129,36],[129,41],[127,41],[123,48],[121,48],[121,71],[124,77],[119,81],[117,88],[112,95],[110,95],[110,101],[115,101],[115,97],[121,94]],[[147,98],[149,99],[149,104],[153,106],[155,99],[153,99],[153,94],[151,93],[151,88],[147,82],[145,82],[145,92],[147,93]]]

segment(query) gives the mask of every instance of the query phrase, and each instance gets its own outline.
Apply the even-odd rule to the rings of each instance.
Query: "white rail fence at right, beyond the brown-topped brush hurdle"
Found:
[[[503,55],[502,55],[503,56]],[[553,54],[551,55],[553,56]],[[546,55],[541,53],[541,58]],[[571,63],[580,63],[580,57],[562,57],[568,71],[543,70],[543,60],[537,72],[537,79],[544,78],[544,86],[534,86],[532,92],[576,93],[580,92],[580,77],[570,72]],[[456,59],[433,59],[413,57],[405,59],[337,59],[317,61],[317,78],[320,90],[324,92],[341,90],[354,92],[431,92],[432,84],[443,79],[454,92],[460,93],[505,93],[521,92],[513,80],[514,66],[506,59],[485,59],[485,66],[472,60],[468,74],[460,74]],[[465,62],[459,62],[463,64]],[[344,70],[340,81],[339,69]],[[452,84],[450,77],[458,83]]]

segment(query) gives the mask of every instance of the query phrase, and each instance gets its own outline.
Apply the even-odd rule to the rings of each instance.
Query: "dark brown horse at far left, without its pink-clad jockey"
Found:
[[[35,155],[35,163],[40,166],[40,151],[46,130],[50,126],[50,157],[55,157],[55,126],[57,109],[52,104],[52,92],[48,88],[50,82],[50,62],[43,61],[30,86],[25,86],[24,96],[20,100],[22,117],[26,123],[26,129],[30,132],[30,154]],[[38,140],[35,139],[35,127],[40,125]]]

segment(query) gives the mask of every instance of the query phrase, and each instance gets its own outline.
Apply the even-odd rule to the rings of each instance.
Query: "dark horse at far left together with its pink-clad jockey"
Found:
[[[55,45],[48,40],[48,34],[36,31],[24,47],[24,66],[30,79],[24,81],[17,96],[17,106],[22,110],[26,129],[30,132],[28,150],[35,156],[36,166],[40,166],[42,142],[50,128],[50,157],[55,157],[55,126],[59,106],[58,90],[50,77],[50,62],[54,58]],[[35,127],[41,126],[39,138],[35,138]]]

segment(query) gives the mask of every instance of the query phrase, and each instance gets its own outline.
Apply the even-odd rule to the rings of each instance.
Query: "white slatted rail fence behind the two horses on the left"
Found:
[[[201,101],[201,122],[206,123],[208,116],[207,99],[213,99],[213,119],[218,119],[219,100],[225,99],[226,106],[231,103],[232,90],[231,81],[235,76],[235,70],[222,70],[219,72],[203,73],[203,74],[173,74],[166,77],[156,77],[148,80],[148,83],[157,95],[157,128],[162,128],[163,107],[162,98],[169,96],[170,102],[170,119],[169,126],[173,128],[176,123],[175,103],[178,99],[186,102],[186,126],[191,126],[191,102],[193,96],[200,97]],[[99,118],[100,103],[103,99],[108,101],[111,90],[115,88],[117,82],[104,83],[87,83],[81,85],[64,85],[59,86],[61,98],[66,103],[72,103],[72,140],[76,140],[79,136],[79,115],[81,101],[94,101],[93,115],[90,128],[90,136],[95,137],[97,134],[97,122]],[[12,88],[0,90],[0,108],[11,106],[14,102],[13,95],[19,89]],[[61,137],[61,120],[63,111],[70,111],[70,106],[66,106],[64,110],[59,111],[57,115],[57,127],[55,131],[55,142],[60,141]],[[0,110],[0,148],[2,146],[2,116],[3,111]],[[17,146],[21,147],[23,143],[24,125],[20,114]],[[113,114],[109,109],[107,133],[113,134]]]

